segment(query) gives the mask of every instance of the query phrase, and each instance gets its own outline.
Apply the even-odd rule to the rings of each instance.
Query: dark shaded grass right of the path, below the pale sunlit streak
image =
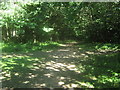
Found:
[[[82,49],[85,50],[84,47]],[[91,52],[91,49],[87,49],[87,52]],[[84,53],[86,53],[86,50]],[[95,88],[118,88],[120,83],[120,53],[101,53],[97,55],[94,52],[88,54],[86,58],[83,58],[82,64],[78,63],[77,66],[84,73],[84,77],[91,78],[89,83]]]

